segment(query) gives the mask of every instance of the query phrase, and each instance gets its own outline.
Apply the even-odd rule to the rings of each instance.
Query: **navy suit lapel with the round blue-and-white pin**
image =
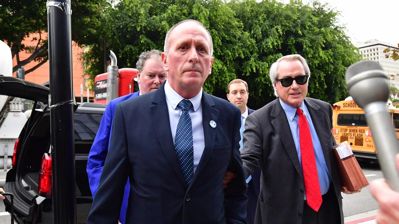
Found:
[[[202,126],[203,126],[203,135],[205,141],[205,148],[203,149],[203,153],[201,159],[199,160],[196,172],[191,180],[190,186],[188,187],[188,191],[190,190],[191,186],[195,183],[198,179],[198,176],[201,174],[201,171],[205,167],[206,163],[208,162],[209,158],[213,153],[213,147],[215,146],[215,136],[216,136],[216,128],[212,128],[209,122],[211,120],[215,121],[217,124],[217,118],[219,111],[213,108],[215,106],[213,100],[205,91],[202,92]]]

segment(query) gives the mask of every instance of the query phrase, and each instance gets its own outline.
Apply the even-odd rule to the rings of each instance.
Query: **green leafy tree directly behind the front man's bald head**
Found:
[[[107,39],[105,46],[115,52],[120,68],[135,67],[138,55],[143,51],[162,51],[166,33],[177,22],[188,18],[202,22],[213,37],[213,71],[204,85],[204,89],[211,93],[221,90],[225,94],[227,83],[235,79],[240,69],[237,58],[248,55],[247,49],[252,46],[241,22],[221,0],[122,0],[106,18],[103,26]],[[85,71],[92,78],[104,72],[102,59],[106,49],[103,46],[92,45],[91,52],[83,55],[89,62]]]

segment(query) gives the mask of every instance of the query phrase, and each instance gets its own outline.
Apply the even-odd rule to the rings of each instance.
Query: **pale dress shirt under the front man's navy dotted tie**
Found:
[[[180,96],[172,87],[168,80],[165,81],[166,104],[168,105],[170,131],[172,132],[173,143],[175,142],[177,124],[179,123],[182,110],[177,106],[184,98]],[[199,160],[201,159],[203,149],[205,148],[205,138],[203,136],[202,126],[202,88],[199,93],[190,100],[193,106],[188,110],[191,117],[193,129],[193,146],[194,146],[194,173],[197,169]],[[176,155],[177,156],[177,155]]]

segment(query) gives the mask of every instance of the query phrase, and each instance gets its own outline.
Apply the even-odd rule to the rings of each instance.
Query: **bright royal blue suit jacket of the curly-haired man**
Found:
[[[108,154],[109,140],[111,139],[111,125],[114,118],[115,108],[120,102],[130,98],[134,98],[138,95],[139,91],[113,99],[109,102],[107,108],[104,111],[99,130],[97,131],[97,135],[89,152],[89,159],[87,160],[86,171],[87,175],[89,176],[89,185],[93,198],[95,196],[95,193],[97,192],[101,172],[103,171],[105,163],[105,158]],[[124,189],[124,199],[120,208],[119,220],[122,224],[124,224],[126,217],[127,198],[129,197],[129,190],[130,184],[129,182],[127,182]]]

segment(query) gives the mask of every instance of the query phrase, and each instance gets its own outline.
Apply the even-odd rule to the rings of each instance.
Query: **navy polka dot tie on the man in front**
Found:
[[[175,149],[187,184],[194,175],[194,146],[191,117],[188,110],[193,106],[190,100],[182,100],[177,105],[182,110],[175,136]]]

